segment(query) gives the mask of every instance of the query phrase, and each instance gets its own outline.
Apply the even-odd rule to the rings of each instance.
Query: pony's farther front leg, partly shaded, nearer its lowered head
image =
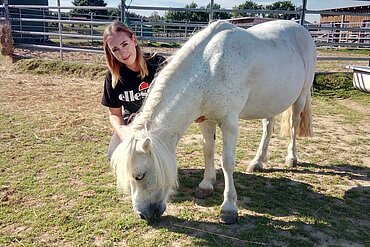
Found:
[[[196,198],[206,198],[213,194],[213,185],[216,182],[216,169],[214,164],[216,123],[205,121],[200,124],[204,138],[204,178],[195,191]]]

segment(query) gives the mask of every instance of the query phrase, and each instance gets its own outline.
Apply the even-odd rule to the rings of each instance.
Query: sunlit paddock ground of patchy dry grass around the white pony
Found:
[[[162,220],[138,219],[129,197],[117,193],[106,159],[104,70],[89,66],[0,66],[0,246],[370,245],[370,102],[352,89],[350,74],[317,75],[315,136],[298,140],[297,167],[284,166],[288,140],[275,131],[265,172],[246,173],[261,127],[240,122],[239,221],[229,226],[218,223],[219,130],[215,193],[193,197],[203,173],[196,124],[178,145],[180,187]]]

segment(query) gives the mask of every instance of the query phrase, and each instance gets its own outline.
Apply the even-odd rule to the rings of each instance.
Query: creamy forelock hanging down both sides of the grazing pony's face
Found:
[[[124,141],[118,145],[113,152],[111,164],[117,175],[118,191],[128,193],[130,190],[130,181],[134,178],[134,159],[136,155],[136,146],[140,141],[150,140],[148,153],[153,158],[153,165],[156,177],[156,185],[160,188],[169,187],[170,194],[177,188],[177,168],[176,157],[171,155],[166,145],[148,131],[132,132],[126,136]]]

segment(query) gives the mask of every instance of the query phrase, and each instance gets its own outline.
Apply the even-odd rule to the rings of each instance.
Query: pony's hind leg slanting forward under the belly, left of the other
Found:
[[[275,117],[262,119],[262,139],[258,147],[256,156],[250,162],[247,171],[262,171],[263,164],[267,164],[267,151],[270,143],[272,131],[274,129]]]

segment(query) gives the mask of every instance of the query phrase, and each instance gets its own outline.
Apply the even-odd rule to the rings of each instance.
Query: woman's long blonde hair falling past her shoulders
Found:
[[[117,20],[113,21],[113,23],[107,26],[107,28],[104,30],[103,34],[104,53],[108,68],[112,74],[113,88],[117,85],[118,80],[121,79],[120,75],[121,67],[125,66],[123,63],[117,60],[117,58],[112,54],[108,46],[108,41],[111,38],[112,34],[115,32],[124,32],[128,35],[130,39],[135,38],[135,34],[131,31],[131,29],[129,29],[126,25]],[[140,78],[141,79],[145,78],[145,76],[147,76],[149,72],[148,67],[146,65],[146,61],[144,59],[144,54],[141,51],[139,44],[137,44],[136,46],[136,63],[139,65],[140,68]]]

